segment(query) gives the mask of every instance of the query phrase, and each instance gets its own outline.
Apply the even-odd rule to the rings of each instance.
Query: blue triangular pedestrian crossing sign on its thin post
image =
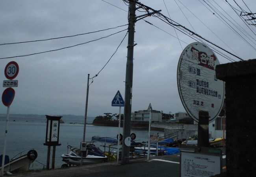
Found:
[[[117,93],[115,94],[112,102],[111,102],[111,106],[115,106],[118,107],[119,106],[119,119],[118,119],[118,134],[117,134],[117,164],[118,164],[118,160],[119,160],[119,149],[120,149],[120,124],[121,124],[121,107],[124,107],[124,99],[122,99],[122,95],[119,92],[119,90],[117,91]]]

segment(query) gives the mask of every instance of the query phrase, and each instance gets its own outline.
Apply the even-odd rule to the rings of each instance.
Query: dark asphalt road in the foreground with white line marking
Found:
[[[179,156],[130,160],[130,164],[115,166],[113,162],[54,170],[33,171],[11,175],[13,177],[178,177]]]

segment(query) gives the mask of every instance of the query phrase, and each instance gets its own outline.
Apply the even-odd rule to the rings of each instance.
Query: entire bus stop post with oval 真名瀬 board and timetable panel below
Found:
[[[219,116],[224,104],[224,82],[216,78],[216,65],[219,61],[213,51],[200,42],[189,44],[180,55],[177,69],[180,100],[189,116],[198,122],[197,146],[180,149],[181,177],[221,173],[221,152],[208,147],[209,122]],[[212,154],[212,151],[218,152]]]

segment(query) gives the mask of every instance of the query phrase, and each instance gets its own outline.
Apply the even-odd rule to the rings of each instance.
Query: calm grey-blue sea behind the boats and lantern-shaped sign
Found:
[[[61,155],[67,153],[67,144],[75,147],[80,146],[83,140],[83,124],[69,124],[83,123],[83,119],[70,120],[69,118],[62,118],[65,124],[60,124],[59,127],[59,143],[61,146],[56,146],[55,168],[60,168],[64,162],[61,161]],[[94,118],[87,118],[87,122],[91,123]],[[27,122],[26,122],[27,121]],[[0,118],[0,154],[4,149],[4,130],[6,118]],[[158,132],[158,131],[152,131]],[[121,128],[122,133],[122,128]],[[131,129],[131,133],[136,134],[136,139],[140,141],[147,141],[148,131]],[[86,125],[85,141],[90,141],[92,136],[111,136],[116,137],[118,134],[118,127],[102,127],[94,125]],[[163,136],[163,132],[159,132]],[[7,133],[6,155],[11,159],[20,151],[33,147],[37,153],[37,161],[46,165],[47,146],[44,146],[46,135],[46,118],[32,119],[32,118],[15,118],[15,121],[10,118]],[[96,144],[99,146],[100,144]],[[102,149],[102,148],[101,148]],[[51,148],[52,153],[52,148]],[[42,169],[43,165],[34,162],[30,169]],[[51,166],[50,159],[50,166]]]

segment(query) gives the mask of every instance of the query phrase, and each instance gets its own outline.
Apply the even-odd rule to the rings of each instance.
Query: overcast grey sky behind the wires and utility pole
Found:
[[[63,37],[128,24],[128,13],[126,12],[128,6],[124,2],[122,0],[105,1],[121,9],[102,0],[2,1],[0,5],[0,43]],[[153,9],[161,9],[163,15],[167,17],[170,15],[174,21],[242,59],[256,58],[255,49],[230,30],[225,23],[221,22],[216,13],[211,13],[210,7],[205,3],[202,4],[202,0],[180,0],[196,17],[178,0],[176,2],[179,7],[175,0],[141,0],[140,2]],[[252,29],[250,30],[224,0],[209,0],[209,2],[206,0],[206,2],[208,4],[211,2],[225,17],[229,19],[232,17],[237,24],[234,21],[232,23],[236,26],[240,25],[243,28],[241,31],[245,30],[246,32],[243,33],[248,33],[249,37],[245,37],[237,29],[236,31],[256,48],[256,26],[250,26]],[[228,0],[228,2],[239,10],[233,0]],[[256,13],[255,0],[244,0],[244,2],[253,13]],[[237,0],[237,4],[242,9],[249,11],[243,1]],[[237,11],[237,13],[239,12]],[[137,16],[143,14],[144,12],[136,11]],[[176,37],[173,27],[160,19],[147,17],[145,20]],[[225,20],[228,22],[227,19]],[[252,22],[256,24],[255,21]],[[113,30],[50,41],[1,45],[0,58],[64,48],[98,39],[126,28],[127,26],[124,26]],[[175,37],[143,20],[136,22],[135,43],[137,45],[134,47],[132,111],[147,109],[149,103],[153,109],[164,113],[185,111],[178,95],[177,65],[182,50],[188,44],[196,41],[180,31],[176,30],[176,32],[178,38],[186,42],[180,41],[182,47]],[[102,69],[125,34],[126,31],[123,31],[108,38],[56,52],[0,59],[1,82],[6,80],[4,68],[7,63],[16,61],[20,68],[19,75],[15,78],[19,80],[19,87],[14,88],[16,95],[10,106],[10,113],[84,115],[87,74],[93,77]],[[119,112],[118,107],[111,107],[111,101],[117,90],[120,90],[124,98],[127,40],[128,36],[122,42],[117,53],[90,85],[88,116],[102,115],[104,112]],[[223,53],[231,56],[226,52]],[[220,63],[231,62],[221,55],[215,54]],[[235,57],[232,58],[239,61]],[[0,88],[1,94],[4,89],[3,87]],[[6,111],[7,108],[0,104],[0,113],[5,114]]]

